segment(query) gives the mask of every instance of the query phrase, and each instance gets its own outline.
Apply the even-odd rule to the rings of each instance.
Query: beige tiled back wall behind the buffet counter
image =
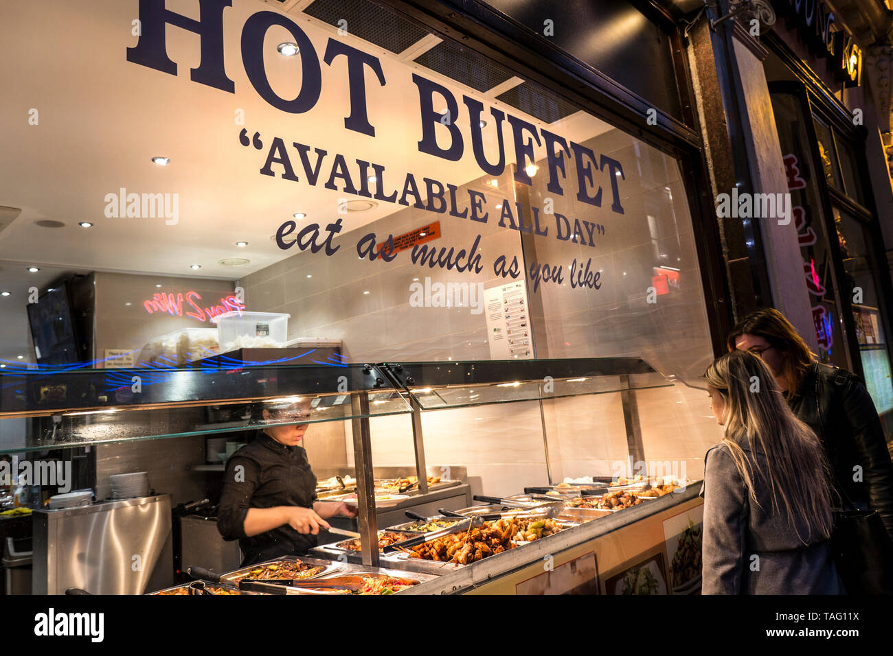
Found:
[[[610,211],[610,186],[603,192],[603,206],[594,208],[574,198],[573,184],[565,185],[567,192],[558,197],[545,188],[545,176],[534,178],[532,203],[542,206],[551,197],[555,212],[571,220],[605,225],[605,235],[595,236],[593,248],[555,239],[554,222],[550,224],[554,218],[544,217],[543,225],[551,227],[548,237],[533,239],[537,260],[566,267],[574,257],[582,262],[592,258],[594,270],[602,270],[602,286],[572,289],[565,280],[562,286],[544,283],[539,287],[533,308],[542,310],[533,319],[541,320],[545,336],[537,344],[538,356],[636,355],[664,374],[697,385],[712,352],[678,166],[619,130],[608,131],[588,146],[596,154],[623,162],[625,212]],[[540,162],[540,168],[546,170],[545,162]],[[568,162],[566,179],[577,179],[572,162]],[[472,314],[469,308],[409,305],[413,278],[424,281],[429,275],[440,282],[480,281],[492,286],[503,282],[490,268],[496,254],[505,253],[509,260],[517,256],[522,262],[520,233],[496,225],[497,198],[508,195],[514,200],[513,186],[500,179],[500,187],[494,190],[486,182],[476,180],[468,187],[488,195],[488,223],[440,215],[443,237],[430,243],[467,248],[480,234],[485,266],[480,275],[422,270],[410,262],[408,253],[401,253],[393,263],[359,260],[354,245],[367,232],[399,235],[438,218],[409,208],[339,237],[336,243],[341,249],[335,256],[298,253],[247,276],[240,284],[246,289],[249,309],[291,314],[289,338],[343,340],[344,353],[352,362],[488,359],[483,314]],[[657,303],[647,303],[653,267],[662,265],[680,270],[680,288],[658,296]],[[672,467],[677,471],[701,477],[704,453],[720,438],[720,429],[708,416],[705,392],[677,383],[636,396],[647,459],[675,461]],[[627,460],[619,394],[546,402],[542,414],[536,402],[428,412],[422,423],[427,464],[467,466],[475,494],[511,494],[523,486],[548,482],[544,424],[555,482],[563,477],[612,475],[617,473],[617,461]],[[352,461],[349,424],[344,429],[346,458]],[[371,419],[371,437],[376,466],[413,463],[407,417]],[[321,465],[314,463],[317,467]]]

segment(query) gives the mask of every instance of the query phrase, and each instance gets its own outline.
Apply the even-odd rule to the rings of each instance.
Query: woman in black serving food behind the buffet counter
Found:
[[[309,400],[278,409],[258,408],[268,424],[310,417]],[[306,423],[267,426],[227,461],[217,529],[224,540],[238,540],[242,567],[285,555],[305,555],[316,546],[326,519],[355,517],[344,502],[316,500],[316,476],[300,445]]]

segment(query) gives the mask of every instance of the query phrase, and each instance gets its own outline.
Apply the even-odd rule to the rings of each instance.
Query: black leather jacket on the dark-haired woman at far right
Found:
[[[862,380],[849,371],[814,362],[790,407],[822,440],[844,501],[848,497],[878,511],[893,538],[893,461]]]

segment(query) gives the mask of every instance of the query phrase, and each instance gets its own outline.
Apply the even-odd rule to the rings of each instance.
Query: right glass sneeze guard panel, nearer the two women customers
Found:
[[[411,362],[385,365],[422,410],[672,386],[641,358]]]

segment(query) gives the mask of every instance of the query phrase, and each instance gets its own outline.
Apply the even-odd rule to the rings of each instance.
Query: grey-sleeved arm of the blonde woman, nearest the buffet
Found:
[[[747,489],[728,447],[707,452],[704,488],[701,594],[741,594]]]

